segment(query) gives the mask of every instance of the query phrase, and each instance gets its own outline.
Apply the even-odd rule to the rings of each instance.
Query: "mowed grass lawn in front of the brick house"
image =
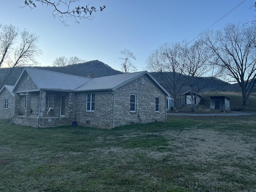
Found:
[[[0,191],[253,192],[256,116],[168,117],[116,130],[0,120]]]

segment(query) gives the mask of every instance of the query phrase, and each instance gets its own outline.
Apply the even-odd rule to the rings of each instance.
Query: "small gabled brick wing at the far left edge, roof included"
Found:
[[[0,119],[12,119],[14,111],[14,86],[4,85],[0,90]]]

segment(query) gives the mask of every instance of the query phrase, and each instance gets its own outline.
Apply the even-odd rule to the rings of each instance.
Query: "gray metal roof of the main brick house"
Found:
[[[162,92],[169,95],[166,90],[147,72],[134,72],[125,73],[112,76],[105,76],[99,78],[86,78],[74,75],[68,75],[58,72],[52,72],[47,70],[41,70],[36,68],[24,68],[16,84],[14,85],[13,92],[16,92],[20,82],[26,75],[37,86],[37,90],[55,90],[55,91],[74,91],[74,92],[88,92],[88,91],[105,91],[116,90],[117,88],[124,86],[125,84],[146,75],[152,80],[152,82],[160,88]],[[19,91],[22,92],[22,91]],[[24,92],[24,91],[23,91]]]

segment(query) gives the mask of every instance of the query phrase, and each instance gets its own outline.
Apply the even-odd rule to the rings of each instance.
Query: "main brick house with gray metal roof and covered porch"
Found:
[[[146,71],[86,78],[24,68],[12,122],[34,127],[114,128],[166,120],[168,92]]]

